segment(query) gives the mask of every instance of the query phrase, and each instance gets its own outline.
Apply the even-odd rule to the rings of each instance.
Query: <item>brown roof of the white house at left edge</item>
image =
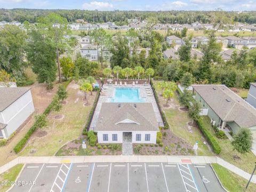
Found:
[[[0,111],[4,111],[29,90],[28,87],[0,87]]]

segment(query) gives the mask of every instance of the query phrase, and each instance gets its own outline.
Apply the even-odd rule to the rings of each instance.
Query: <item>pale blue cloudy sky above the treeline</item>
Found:
[[[0,8],[256,11],[256,0],[0,0]]]

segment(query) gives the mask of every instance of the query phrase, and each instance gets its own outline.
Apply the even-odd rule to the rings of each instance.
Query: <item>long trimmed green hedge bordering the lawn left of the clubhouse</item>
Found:
[[[72,79],[69,79],[68,81],[66,81],[66,82],[63,83],[63,87],[65,88],[65,90],[66,90],[68,84],[69,84],[71,81],[72,81]],[[56,94],[57,94],[57,93],[56,93]],[[53,99],[53,100],[54,100],[54,99]],[[52,102],[50,103],[50,105],[45,109],[43,115],[46,116],[46,115],[48,115],[48,114],[50,113],[52,107],[54,106],[53,100],[52,100]],[[15,152],[16,154],[18,154],[18,153],[22,150],[22,148],[26,145],[26,142],[29,140],[30,136],[31,136],[31,135],[34,133],[34,131],[38,128],[40,121],[41,121],[40,118],[37,119],[37,121],[35,121],[35,123],[30,127],[30,129],[29,129],[28,132],[26,133],[25,137],[23,137],[23,138],[17,143],[17,145],[13,148],[13,150],[14,150],[14,152]]]

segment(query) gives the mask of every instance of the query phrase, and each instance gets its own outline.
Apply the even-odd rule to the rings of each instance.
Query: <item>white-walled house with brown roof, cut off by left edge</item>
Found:
[[[34,111],[30,88],[0,87],[0,138],[9,138]]]

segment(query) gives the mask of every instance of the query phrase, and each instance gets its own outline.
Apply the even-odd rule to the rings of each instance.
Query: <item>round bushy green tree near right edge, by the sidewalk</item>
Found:
[[[252,147],[252,132],[249,129],[241,129],[235,135],[232,145],[239,153],[248,153]]]

